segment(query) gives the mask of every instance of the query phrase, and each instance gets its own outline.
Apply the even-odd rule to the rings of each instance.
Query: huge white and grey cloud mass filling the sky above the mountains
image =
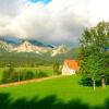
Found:
[[[108,0],[52,0],[48,4],[9,1],[0,0],[0,35],[73,44],[84,27],[109,20]]]

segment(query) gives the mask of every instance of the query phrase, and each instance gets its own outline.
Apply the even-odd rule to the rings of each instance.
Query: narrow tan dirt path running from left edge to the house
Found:
[[[49,76],[49,77],[43,77],[43,78],[34,78],[34,80],[27,80],[27,81],[9,83],[9,84],[1,84],[0,87],[17,86],[17,85],[22,85],[22,84],[34,83],[34,82],[41,82],[41,81],[45,81],[45,80],[50,80],[50,78],[56,78],[56,77],[61,77],[61,76],[62,75],[57,75],[57,76]]]

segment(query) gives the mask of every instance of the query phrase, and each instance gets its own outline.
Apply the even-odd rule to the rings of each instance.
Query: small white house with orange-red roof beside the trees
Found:
[[[72,75],[80,69],[76,60],[65,60],[62,66],[62,75]]]

